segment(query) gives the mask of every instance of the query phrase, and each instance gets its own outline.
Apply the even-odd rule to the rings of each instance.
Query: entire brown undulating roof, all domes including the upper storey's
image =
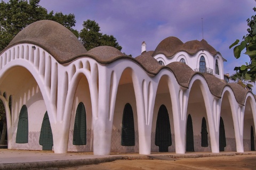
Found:
[[[6,49],[20,43],[31,43],[44,48],[59,63],[68,63],[78,57],[92,57],[99,63],[108,64],[125,58],[138,63],[149,74],[156,75],[162,69],[167,69],[173,72],[177,82],[185,88],[189,88],[189,83],[195,74],[200,74],[206,80],[212,95],[221,98],[223,89],[229,86],[233,90],[237,102],[241,105],[244,104],[246,94],[249,92],[236,83],[223,83],[214,75],[194,72],[188,65],[180,62],[162,66],[152,57],[156,54],[172,57],[180,51],[195,54],[199,50],[207,50],[216,55],[217,51],[204,39],[188,41],[183,44],[177,37],[168,37],[159,43],[155,51],[145,52],[133,58],[109,46],[95,47],[87,52],[77,37],[67,28],[57,22],[43,20],[34,22],[20,31]]]

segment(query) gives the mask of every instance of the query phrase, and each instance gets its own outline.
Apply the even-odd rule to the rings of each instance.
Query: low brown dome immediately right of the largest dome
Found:
[[[124,55],[121,51],[114,47],[110,46],[99,46],[90,49],[87,53],[83,54],[83,56],[90,56],[97,60],[99,63],[111,63],[118,58],[129,57]]]

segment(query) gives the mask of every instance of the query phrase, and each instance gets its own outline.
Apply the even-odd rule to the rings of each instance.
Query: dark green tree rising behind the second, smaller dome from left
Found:
[[[79,39],[86,50],[90,50],[98,46],[111,46],[118,50],[122,49],[113,35],[102,35],[99,24],[94,20],[84,21],[83,29],[79,32]]]

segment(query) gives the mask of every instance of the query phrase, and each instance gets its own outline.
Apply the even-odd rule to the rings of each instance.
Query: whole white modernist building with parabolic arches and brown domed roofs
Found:
[[[149,52],[143,43],[135,58],[108,46],[87,52],[59,23],[32,23],[0,54],[8,148],[254,150],[254,95],[223,80],[224,61],[205,40],[175,37]]]

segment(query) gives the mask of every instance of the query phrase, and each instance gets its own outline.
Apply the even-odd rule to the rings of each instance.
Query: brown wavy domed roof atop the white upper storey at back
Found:
[[[158,44],[152,56],[155,56],[157,54],[164,54],[166,57],[172,57],[180,51],[184,51],[188,54],[193,55],[199,50],[207,50],[213,55],[217,54],[217,50],[209,45],[204,39],[202,39],[201,41],[188,41],[183,44],[182,41],[177,37],[167,37]]]

